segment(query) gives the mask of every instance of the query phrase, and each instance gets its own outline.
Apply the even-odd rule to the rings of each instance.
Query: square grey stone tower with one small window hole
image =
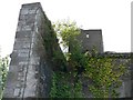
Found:
[[[81,30],[78,39],[81,41],[83,52],[86,50],[92,51],[95,48],[99,53],[103,53],[102,30]]]

